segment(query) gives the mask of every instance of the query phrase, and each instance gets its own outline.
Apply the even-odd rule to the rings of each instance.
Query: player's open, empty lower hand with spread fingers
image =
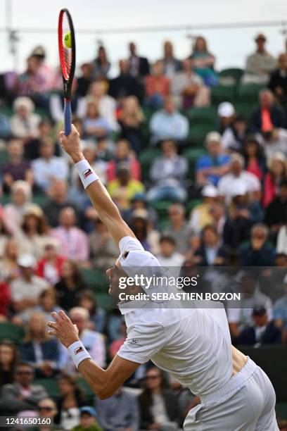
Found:
[[[51,313],[55,322],[48,322],[50,335],[55,335],[63,346],[68,347],[72,343],[79,341],[79,330],[73,325],[70,318],[61,310],[58,313]]]

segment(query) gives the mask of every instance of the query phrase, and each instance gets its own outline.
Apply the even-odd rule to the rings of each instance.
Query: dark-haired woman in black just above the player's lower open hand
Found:
[[[86,284],[77,263],[71,260],[65,261],[60,271],[60,281],[55,285],[59,306],[67,311],[78,306],[81,290],[85,287]]]

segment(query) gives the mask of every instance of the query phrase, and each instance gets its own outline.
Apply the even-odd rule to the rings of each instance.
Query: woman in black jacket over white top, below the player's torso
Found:
[[[162,371],[153,366],[146,371],[144,391],[139,396],[142,430],[177,431],[181,413],[176,394],[165,389]]]

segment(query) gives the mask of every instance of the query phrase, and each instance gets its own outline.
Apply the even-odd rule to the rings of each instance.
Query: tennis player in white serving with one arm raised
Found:
[[[60,132],[63,149],[75,163],[98,216],[120,248],[115,266],[107,270],[109,294],[118,296],[119,277],[133,266],[160,266],[134,236],[98,176],[84,159],[74,126]],[[142,287],[126,288],[142,292]],[[122,292],[122,291],[121,291]],[[126,293],[127,293],[126,292]],[[142,363],[151,360],[200,397],[184,422],[184,430],[275,431],[275,393],[267,375],[231,346],[224,309],[141,308],[119,304],[127,323],[127,339],[106,370],[96,366],[79,341],[77,327],[63,311],[52,313],[51,335],[68,349],[79,373],[101,399],[112,396]],[[157,304],[158,305],[158,304]]]

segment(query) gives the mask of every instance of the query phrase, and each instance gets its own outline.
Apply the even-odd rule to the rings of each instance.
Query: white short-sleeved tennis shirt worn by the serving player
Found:
[[[120,240],[120,252],[144,250],[137,239]],[[136,307],[139,306],[139,301]],[[127,304],[127,303],[126,303]],[[226,313],[215,308],[167,308],[162,302],[141,308],[120,305],[127,324],[127,339],[117,355],[137,363],[151,360],[174,376],[193,394],[210,394],[231,378],[231,338]],[[201,304],[202,306],[202,304]]]

